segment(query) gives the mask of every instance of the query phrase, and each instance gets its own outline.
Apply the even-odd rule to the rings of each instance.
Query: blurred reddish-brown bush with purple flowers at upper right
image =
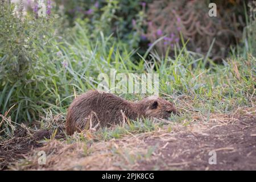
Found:
[[[168,48],[173,51],[175,45],[179,46],[182,34],[190,51],[207,55],[210,49],[209,56],[221,60],[228,54],[230,45],[237,44],[242,38],[243,2],[213,2],[217,3],[216,17],[208,15],[209,1],[154,1],[148,5],[144,34],[151,43],[166,35],[156,44],[160,53],[166,53]]]

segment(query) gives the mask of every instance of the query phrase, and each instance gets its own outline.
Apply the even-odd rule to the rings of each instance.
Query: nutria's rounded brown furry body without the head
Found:
[[[66,131],[71,135],[75,131],[81,131],[88,126],[100,122],[100,126],[110,126],[120,122],[121,110],[124,113],[131,112],[132,104],[114,94],[90,90],[77,97],[69,106]]]

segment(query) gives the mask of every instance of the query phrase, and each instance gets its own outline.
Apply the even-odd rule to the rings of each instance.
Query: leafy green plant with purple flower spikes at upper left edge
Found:
[[[0,8],[0,79],[5,80],[2,86],[17,81],[26,84],[31,81],[35,69],[40,67],[36,53],[51,37],[52,30],[48,26],[51,26],[52,19],[24,15],[22,1],[17,6],[2,0]]]

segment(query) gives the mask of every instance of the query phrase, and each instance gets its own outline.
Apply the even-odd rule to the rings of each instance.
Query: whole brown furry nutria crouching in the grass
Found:
[[[168,119],[171,113],[176,113],[174,105],[158,96],[131,102],[112,93],[90,90],[69,106],[65,127],[67,134],[72,135],[92,126],[109,127],[127,118]]]

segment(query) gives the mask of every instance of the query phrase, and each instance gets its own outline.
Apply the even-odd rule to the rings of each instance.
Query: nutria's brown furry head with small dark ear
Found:
[[[140,113],[147,118],[168,119],[172,113],[178,114],[175,106],[158,96],[146,97],[139,101]]]

